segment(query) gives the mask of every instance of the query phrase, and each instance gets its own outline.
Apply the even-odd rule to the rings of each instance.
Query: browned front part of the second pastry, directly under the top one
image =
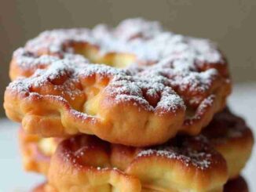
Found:
[[[95,191],[111,186],[117,191],[140,191],[141,186],[207,191],[221,190],[228,179],[225,159],[201,136],[134,149],[110,145],[93,136],[66,139],[50,161],[49,184],[63,192],[73,187],[75,191]],[[128,159],[126,165],[123,159]]]

